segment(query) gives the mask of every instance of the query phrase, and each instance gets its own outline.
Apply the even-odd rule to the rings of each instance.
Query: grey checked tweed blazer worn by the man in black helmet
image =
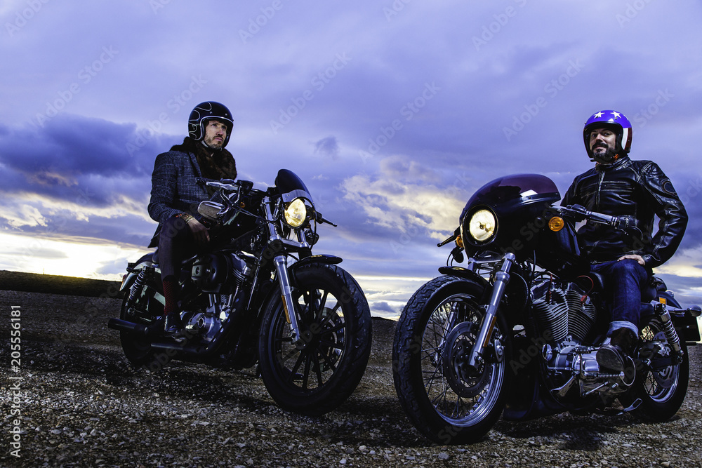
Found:
[[[206,188],[197,184],[199,177],[197,158],[190,152],[171,150],[156,156],[148,208],[151,218],[159,223],[154,239],[168,218],[178,213],[197,215],[200,202],[210,198]]]

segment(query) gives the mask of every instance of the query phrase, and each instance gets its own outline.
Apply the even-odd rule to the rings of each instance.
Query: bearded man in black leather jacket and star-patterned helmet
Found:
[[[611,324],[609,344],[597,353],[603,368],[621,372],[638,340],[641,289],[651,268],[673,256],[687,227],[687,213],[670,179],[652,161],[633,161],[631,123],[621,112],[593,114],[583,130],[585,149],[595,167],[575,178],[562,205],[626,217],[640,230],[586,223],[578,243],[604,277]],[[659,218],[654,234],[654,215]],[[633,234],[635,232],[635,234]]]

